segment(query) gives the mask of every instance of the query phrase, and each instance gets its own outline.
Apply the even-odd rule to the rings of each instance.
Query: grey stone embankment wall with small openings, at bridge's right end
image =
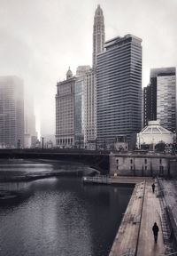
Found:
[[[164,154],[111,154],[111,175],[177,177],[177,156]]]

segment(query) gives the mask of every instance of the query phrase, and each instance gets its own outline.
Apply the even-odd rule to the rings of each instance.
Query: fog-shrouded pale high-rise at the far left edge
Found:
[[[24,147],[24,88],[17,76],[0,76],[0,146]]]

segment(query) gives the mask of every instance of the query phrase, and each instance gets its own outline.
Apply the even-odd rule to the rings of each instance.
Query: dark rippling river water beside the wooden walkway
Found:
[[[26,172],[19,165],[11,172]],[[42,172],[45,164],[33,168]],[[53,177],[2,182],[0,190],[16,193],[0,200],[1,256],[108,256],[133,188]]]

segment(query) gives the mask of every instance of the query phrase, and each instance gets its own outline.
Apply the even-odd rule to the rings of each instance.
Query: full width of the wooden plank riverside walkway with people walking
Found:
[[[164,239],[164,209],[159,197],[161,188],[156,182],[153,193],[153,181],[150,178],[137,180],[109,256],[162,256],[171,255],[170,252],[173,252],[169,251]],[[157,244],[152,233],[154,222],[157,222],[159,228]]]

